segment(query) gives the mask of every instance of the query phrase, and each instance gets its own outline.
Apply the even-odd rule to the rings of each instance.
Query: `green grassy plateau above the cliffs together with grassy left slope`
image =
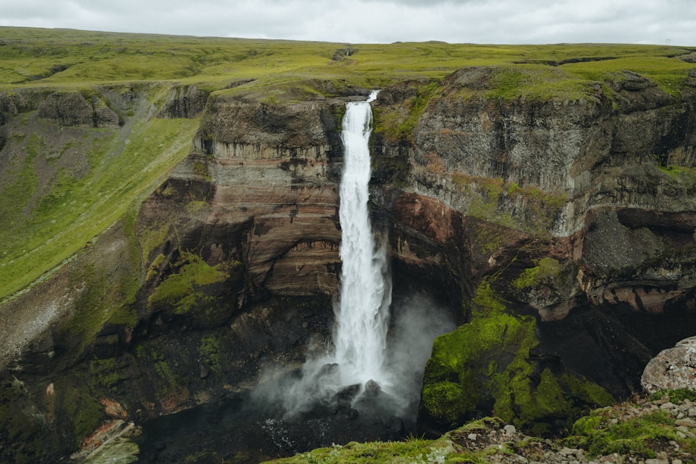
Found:
[[[690,49],[643,45],[348,45],[0,27],[0,93],[134,92],[120,127],[63,127],[0,105],[0,300],[72,256],[187,155],[196,120],[153,116],[172,86],[285,102],[496,67],[489,98],[585,98],[623,70],[679,95]],[[464,89],[463,98],[466,98]]]

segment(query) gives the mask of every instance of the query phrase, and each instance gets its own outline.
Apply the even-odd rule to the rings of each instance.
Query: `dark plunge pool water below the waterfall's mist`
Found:
[[[343,394],[345,396],[345,394]],[[221,399],[142,424],[139,463],[259,463],[350,441],[400,440],[414,421],[338,401],[287,419],[248,397]],[[413,418],[415,419],[415,417]]]

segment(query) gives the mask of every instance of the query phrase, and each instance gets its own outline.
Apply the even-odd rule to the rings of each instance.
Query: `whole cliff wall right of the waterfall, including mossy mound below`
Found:
[[[553,416],[575,406],[554,404],[549,392],[600,404],[577,388],[590,379],[625,397],[640,389],[657,346],[689,336],[694,320],[694,73],[679,98],[624,72],[587,100],[539,102],[480,96],[494,72],[467,68],[427,88],[386,89],[375,109],[379,180],[459,213],[470,243],[472,323],[436,343],[425,429],[491,412],[559,426]],[[395,163],[409,169],[395,173]],[[535,336],[478,339],[514,323],[496,324],[496,314],[536,321]],[[464,355],[467,339],[483,351]]]

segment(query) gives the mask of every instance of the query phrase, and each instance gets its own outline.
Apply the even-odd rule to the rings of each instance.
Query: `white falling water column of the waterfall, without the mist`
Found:
[[[370,102],[349,102],[343,118],[345,167],[340,185],[340,300],[335,309],[333,334],[335,362],[344,385],[374,380],[381,387],[390,381],[385,370],[391,281],[386,272],[386,248],[375,247],[367,215],[372,132]]]

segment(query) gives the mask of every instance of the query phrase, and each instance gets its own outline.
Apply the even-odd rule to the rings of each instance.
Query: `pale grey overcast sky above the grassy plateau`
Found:
[[[0,25],[351,43],[696,46],[696,1],[0,0]]]

